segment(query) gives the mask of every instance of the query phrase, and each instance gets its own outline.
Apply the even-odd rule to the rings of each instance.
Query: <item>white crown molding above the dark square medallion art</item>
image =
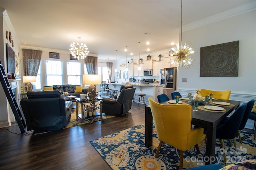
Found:
[[[214,23],[214,22],[217,22],[217,21],[220,21],[220,20],[224,20],[226,18],[230,18],[230,17],[233,17],[233,16],[244,14],[244,13],[250,12],[252,10],[256,10],[256,1],[244,4],[242,6],[238,6],[236,8],[221,12],[219,14],[215,14],[213,16],[204,18],[202,20],[198,20],[198,21],[186,24],[186,25],[182,25],[182,32],[183,31],[188,31],[190,29],[194,29],[194,28],[197,28],[197,27],[202,27],[204,25]],[[180,31],[180,27],[178,29]]]

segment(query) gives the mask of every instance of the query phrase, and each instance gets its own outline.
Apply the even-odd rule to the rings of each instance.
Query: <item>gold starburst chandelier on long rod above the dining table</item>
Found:
[[[181,68],[188,68],[190,67],[191,63],[194,62],[194,59],[190,58],[190,54],[194,53],[194,45],[188,43],[188,45],[182,44],[182,0],[181,0],[181,31],[180,31],[180,46],[174,45],[171,50],[169,51],[169,55],[174,57],[168,63],[171,63],[172,67],[181,67]]]

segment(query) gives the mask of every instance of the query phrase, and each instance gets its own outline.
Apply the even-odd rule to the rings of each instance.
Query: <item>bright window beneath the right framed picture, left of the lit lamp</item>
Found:
[[[67,62],[68,84],[81,84],[81,63]]]

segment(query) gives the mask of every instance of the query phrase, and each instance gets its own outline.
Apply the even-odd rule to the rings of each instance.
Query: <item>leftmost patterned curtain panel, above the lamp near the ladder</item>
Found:
[[[24,76],[36,76],[42,57],[42,51],[22,49]]]

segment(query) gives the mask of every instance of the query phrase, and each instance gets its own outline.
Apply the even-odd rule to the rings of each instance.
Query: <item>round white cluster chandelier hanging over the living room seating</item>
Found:
[[[81,37],[78,37],[78,39],[80,39]],[[90,51],[87,51],[88,50],[88,47],[86,46],[86,44],[84,43],[76,43],[78,45],[78,48],[75,46],[75,43],[71,43],[70,44],[70,47],[71,49],[70,52],[72,54],[72,56],[75,58],[75,59],[78,59],[81,58],[81,59],[84,59],[87,57],[88,53]]]

